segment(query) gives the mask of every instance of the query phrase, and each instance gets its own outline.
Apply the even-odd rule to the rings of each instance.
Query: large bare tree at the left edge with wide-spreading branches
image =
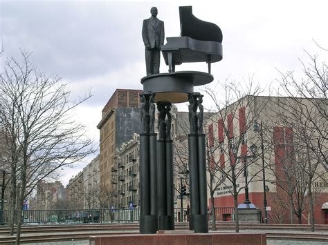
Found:
[[[0,75],[0,126],[8,139],[12,213],[15,208],[21,210],[24,198],[42,179],[93,153],[84,126],[72,117],[74,108],[91,95],[70,101],[67,85],[60,78],[37,72],[28,52],[21,56],[21,62],[9,59]],[[19,244],[23,213],[17,213]],[[12,222],[12,232],[13,227]]]

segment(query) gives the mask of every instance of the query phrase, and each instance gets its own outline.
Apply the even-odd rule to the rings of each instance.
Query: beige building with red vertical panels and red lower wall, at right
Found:
[[[316,103],[325,104],[327,102],[327,100],[316,101]],[[309,128],[306,128],[307,124],[302,121],[306,119],[301,116],[297,118],[300,114],[297,110],[309,110],[311,112],[309,115],[313,116],[311,120],[316,121],[316,126],[320,129],[311,131],[313,128],[311,120],[309,120]],[[270,220],[271,222],[278,222],[278,216],[283,213],[280,206],[289,205],[288,203],[282,203],[282,199],[286,198],[287,183],[294,182],[295,179],[305,176],[301,177],[295,173],[288,180],[286,178],[290,175],[289,172],[294,169],[296,164],[303,163],[304,168],[301,168],[300,173],[306,173],[309,170],[309,165],[305,164],[305,159],[304,161],[300,160],[303,154],[300,150],[302,145],[302,142],[300,142],[301,132],[304,130],[304,133],[313,137],[313,140],[309,141],[313,143],[313,146],[316,145],[317,140],[320,140],[320,147],[327,151],[327,141],[322,141],[322,137],[319,135],[320,130],[327,131],[327,121],[325,121],[313,106],[313,101],[304,98],[295,101],[289,97],[246,96],[228,108],[217,112],[211,118],[210,123],[207,124],[210,152],[209,167],[212,169],[212,173],[215,173],[213,179],[213,185],[216,186],[215,206],[234,206],[231,171],[235,168],[237,190],[239,192],[238,204],[243,204],[245,201],[246,174],[250,202],[255,204],[256,207],[262,208],[263,211],[265,188],[269,222]],[[252,157],[254,155],[251,152],[252,146],[256,146],[255,149],[257,149],[255,157]],[[264,150],[263,159],[262,148]],[[328,215],[326,214],[328,210],[321,208],[328,198],[327,185],[322,184],[328,181],[328,168],[327,162],[320,155],[312,155],[311,157],[313,159],[311,159],[310,165],[315,166],[313,177],[317,179],[317,181],[313,181],[311,189],[316,192],[316,218],[319,220],[319,224],[322,224],[322,222],[325,222],[325,215]],[[320,164],[316,164],[316,161]],[[210,175],[208,174],[209,181]],[[306,183],[304,182],[302,187],[304,188],[303,195],[305,197],[305,193],[307,193]],[[322,188],[319,190],[316,186],[320,186],[320,183]],[[210,197],[210,193],[208,193],[208,197]],[[296,202],[295,199],[294,202]],[[304,210],[308,210],[307,205],[308,200],[305,198]],[[228,219],[231,218],[229,214],[224,215]],[[307,213],[305,213],[304,217],[307,216]],[[282,215],[280,219],[288,219],[288,212]],[[286,222],[286,220],[283,222]]]

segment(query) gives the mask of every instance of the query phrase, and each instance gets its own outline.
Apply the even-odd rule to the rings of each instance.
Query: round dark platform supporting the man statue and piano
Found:
[[[156,93],[155,102],[182,103],[188,101],[188,94],[194,92],[194,86],[209,84],[211,81],[213,76],[209,73],[183,71],[143,77],[141,84],[145,92]]]

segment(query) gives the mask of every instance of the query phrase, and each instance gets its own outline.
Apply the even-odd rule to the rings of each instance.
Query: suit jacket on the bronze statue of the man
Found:
[[[164,43],[164,22],[157,19],[156,24],[152,23],[152,17],[143,20],[143,43],[150,48],[161,50]]]

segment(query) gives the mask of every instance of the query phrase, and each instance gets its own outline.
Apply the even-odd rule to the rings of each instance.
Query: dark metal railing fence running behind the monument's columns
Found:
[[[17,211],[15,211],[17,217]],[[65,210],[22,210],[23,224],[79,224],[79,223],[138,223],[140,209],[65,209]],[[212,214],[208,210],[208,219]],[[175,222],[188,222],[190,208],[174,208]],[[233,208],[215,208],[217,220],[233,220]],[[10,211],[0,210],[0,225],[6,225]]]

